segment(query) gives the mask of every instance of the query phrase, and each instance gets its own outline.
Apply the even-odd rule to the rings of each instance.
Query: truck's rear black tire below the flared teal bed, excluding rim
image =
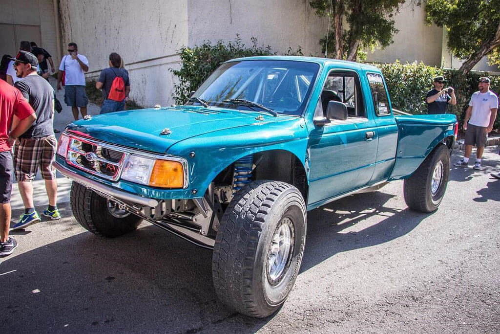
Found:
[[[435,195],[432,195],[431,182],[434,168],[442,163],[442,181]],[[404,180],[404,201],[415,211],[432,212],[437,210],[446,191],[449,178],[449,150],[444,144],[439,144],[425,158],[418,169]]]

